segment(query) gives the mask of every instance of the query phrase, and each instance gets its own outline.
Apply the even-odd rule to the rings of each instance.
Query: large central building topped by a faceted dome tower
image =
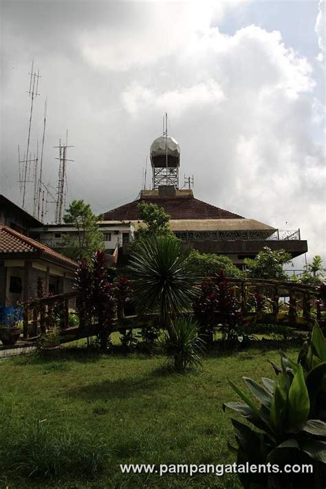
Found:
[[[170,215],[171,230],[182,239],[184,249],[224,254],[239,268],[243,259],[254,258],[264,246],[284,249],[292,257],[307,252],[300,230],[279,230],[255,219],[247,219],[196,199],[191,189],[179,188],[180,146],[166,134],[151,145],[152,190],[140,191],[133,202],[109,210],[106,223],[131,222],[135,232],[140,225],[139,202],[164,208]]]

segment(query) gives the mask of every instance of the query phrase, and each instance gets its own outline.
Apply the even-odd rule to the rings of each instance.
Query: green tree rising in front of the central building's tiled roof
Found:
[[[140,225],[138,228],[138,239],[173,235],[169,225],[170,216],[166,214],[164,208],[150,202],[141,201],[138,204],[138,210],[140,219],[145,224],[145,226]]]

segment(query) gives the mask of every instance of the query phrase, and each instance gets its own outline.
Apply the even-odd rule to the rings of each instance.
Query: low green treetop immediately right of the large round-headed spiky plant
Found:
[[[243,272],[239,270],[232,260],[223,254],[199,253],[197,250],[192,250],[189,254],[195,272],[201,276],[213,276],[224,270],[224,274],[228,277],[243,276]]]

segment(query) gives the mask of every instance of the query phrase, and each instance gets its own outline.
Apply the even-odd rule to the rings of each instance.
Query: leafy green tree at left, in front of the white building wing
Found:
[[[98,217],[83,200],[74,200],[63,216],[65,224],[72,224],[76,231],[63,237],[63,252],[74,260],[85,259],[89,263],[96,250],[104,248],[103,235],[98,230]]]

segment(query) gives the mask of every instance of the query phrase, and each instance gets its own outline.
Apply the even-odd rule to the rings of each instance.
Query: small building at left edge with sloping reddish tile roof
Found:
[[[0,224],[0,306],[35,298],[39,277],[45,295],[71,291],[77,267],[63,254]]]

